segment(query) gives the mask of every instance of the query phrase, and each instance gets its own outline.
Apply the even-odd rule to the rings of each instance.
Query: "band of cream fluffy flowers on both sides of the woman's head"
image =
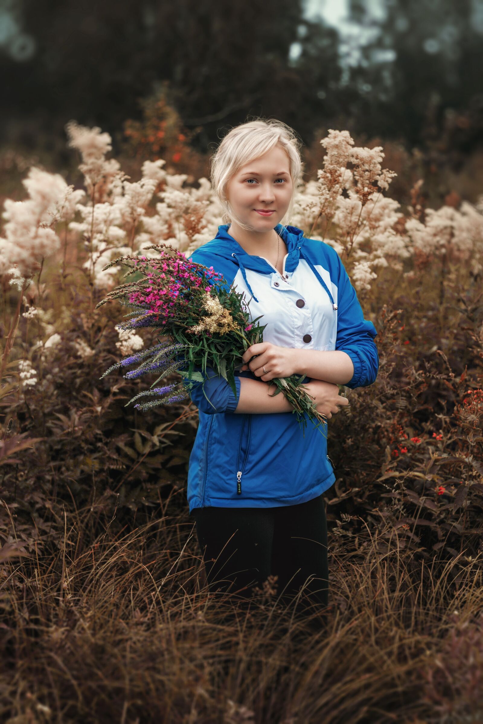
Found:
[[[154,249],[147,249],[157,243],[168,243],[190,256],[217,234],[223,211],[208,179],[198,179],[197,189],[185,188],[190,177],[168,173],[166,161],[156,159],[145,161],[141,179],[130,182],[118,161],[106,159],[112,150],[109,133],[75,121],[67,123],[66,132],[68,145],[80,153],[87,193],[67,186],[59,174],[30,168],[23,181],[29,198],[5,201],[0,275],[10,274],[11,285],[22,290],[24,277],[38,269],[43,257],[59,249],[58,222],[67,222],[68,230],[83,238],[84,268],[93,287],[101,289],[118,282],[122,266],[103,270],[115,258],[158,256]],[[323,167],[317,180],[299,182],[290,224],[303,229],[306,237],[335,248],[358,290],[370,290],[384,267],[402,272],[403,262],[416,251],[434,255],[449,250],[453,258],[467,262],[474,274],[481,271],[483,196],[475,206],[464,201],[460,209],[409,207],[405,216],[397,201],[383,195],[395,172],[382,168],[381,146],[355,147],[346,130],[329,130],[320,143],[327,151]],[[154,195],[159,198],[155,209],[151,206]],[[411,274],[406,271],[406,278]],[[34,314],[28,310],[23,316]],[[52,325],[48,331],[54,333]],[[85,349],[85,342],[76,344],[80,355],[93,353]]]

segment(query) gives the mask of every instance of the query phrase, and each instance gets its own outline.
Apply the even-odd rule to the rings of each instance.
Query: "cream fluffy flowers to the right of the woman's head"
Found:
[[[403,261],[416,249],[429,255],[450,252],[454,259],[467,261],[474,274],[481,271],[483,195],[475,206],[463,201],[458,210],[427,209],[424,222],[419,219],[421,208],[410,207],[407,218],[397,201],[382,195],[395,172],[382,169],[380,146],[353,148],[348,131],[335,130],[320,143],[327,149],[324,168],[317,182],[309,181],[295,193],[292,223],[352,262],[350,276],[358,290],[371,289],[378,269],[403,271]],[[318,221],[324,222],[324,237],[311,233]],[[405,276],[413,278],[412,271]]]

